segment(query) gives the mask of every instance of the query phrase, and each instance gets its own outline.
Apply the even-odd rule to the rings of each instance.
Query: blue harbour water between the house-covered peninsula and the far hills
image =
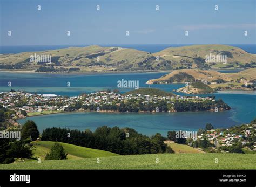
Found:
[[[5,73],[0,72],[0,92],[10,89],[24,90],[33,93],[53,93],[58,95],[77,96],[82,92],[94,93],[105,89],[119,89],[127,92],[134,88],[118,88],[118,80],[139,80],[139,87],[149,87],[145,82],[156,79],[167,72],[161,73],[123,73],[123,74],[52,74],[52,73]],[[11,82],[12,87],[8,87]],[[70,82],[70,87],[67,87]],[[184,84],[150,85],[150,87],[172,91]]]

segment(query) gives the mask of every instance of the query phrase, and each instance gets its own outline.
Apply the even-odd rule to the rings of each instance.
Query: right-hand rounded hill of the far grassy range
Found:
[[[210,55],[210,53],[212,55],[226,55],[227,64],[205,63],[206,55]],[[171,61],[174,67],[191,68],[234,68],[245,63],[253,63],[256,60],[255,54],[247,53],[238,47],[219,44],[169,47],[154,53],[154,56],[160,56],[165,60]]]

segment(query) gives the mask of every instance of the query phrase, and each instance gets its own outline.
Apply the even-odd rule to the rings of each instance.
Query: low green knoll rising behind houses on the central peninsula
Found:
[[[125,93],[126,95],[129,94],[142,94],[142,95],[158,95],[158,96],[172,96],[175,95],[171,92],[165,92],[161,89],[156,89],[156,88],[139,88],[139,89],[134,89],[133,91],[129,91]]]

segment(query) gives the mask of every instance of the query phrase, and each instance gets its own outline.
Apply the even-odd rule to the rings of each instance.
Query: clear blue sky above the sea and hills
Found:
[[[253,44],[256,41],[255,0],[0,2],[1,45]],[[40,11],[37,5],[41,5]],[[218,11],[214,10],[215,5]],[[66,35],[67,31],[71,36]],[[126,31],[130,31],[130,36],[126,36]],[[244,31],[248,36],[244,36]]]

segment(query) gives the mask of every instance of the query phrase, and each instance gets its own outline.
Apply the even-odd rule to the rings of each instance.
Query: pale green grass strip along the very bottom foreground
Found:
[[[102,157],[100,163],[84,158],[0,164],[0,169],[256,169],[255,158],[255,154],[150,154]]]

